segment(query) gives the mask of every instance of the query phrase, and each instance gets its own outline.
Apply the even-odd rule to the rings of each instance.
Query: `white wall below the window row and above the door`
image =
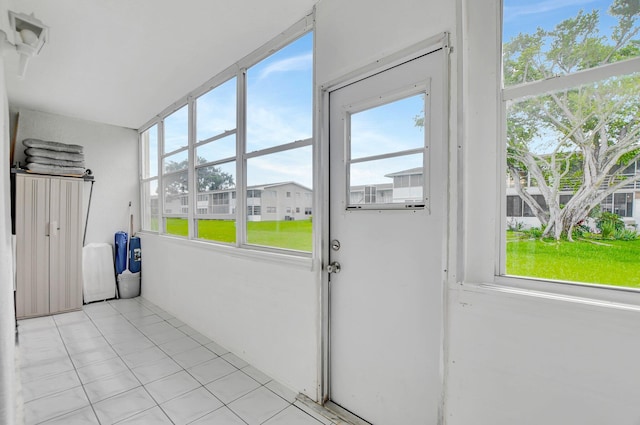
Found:
[[[397,0],[371,7],[367,0],[320,1],[315,33],[317,84],[453,31],[455,4],[432,1],[429,7],[428,3]],[[224,250],[151,235],[144,236],[142,243],[145,298],[291,389],[318,398],[317,270],[277,259],[234,257]]]

